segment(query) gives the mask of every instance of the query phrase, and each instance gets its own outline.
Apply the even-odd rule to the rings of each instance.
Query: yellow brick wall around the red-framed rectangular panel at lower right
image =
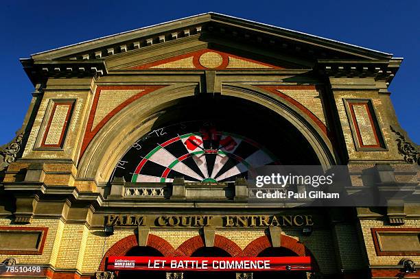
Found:
[[[377,256],[371,232],[371,228],[420,228],[420,220],[407,219],[404,225],[393,227],[384,226],[383,221],[360,220],[360,226],[362,228],[364,245],[366,245],[370,265],[398,265],[401,258],[410,258],[415,263],[420,262],[420,256]]]

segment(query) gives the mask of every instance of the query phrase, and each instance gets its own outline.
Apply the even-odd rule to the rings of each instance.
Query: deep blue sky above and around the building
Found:
[[[5,1],[0,8],[0,145],[21,127],[34,90],[19,58],[100,36],[220,12],[393,53],[394,108],[420,143],[420,1]]]

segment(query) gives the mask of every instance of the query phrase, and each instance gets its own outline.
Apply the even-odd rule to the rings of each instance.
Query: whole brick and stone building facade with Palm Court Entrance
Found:
[[[401,61],[214,13],[23,59],[35,90],[0,151],[0,260],[35,278],[417,278],[420,153],[388,91]],[[243,177],[264,165],[345,165],[386,206],[250,202]],[[111,256],[310,270],[111,271]]]

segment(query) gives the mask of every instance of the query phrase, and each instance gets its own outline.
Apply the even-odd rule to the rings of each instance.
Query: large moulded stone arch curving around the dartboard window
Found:
[[[80,159],[78,177],[104,182],[110,178],[122,154],[138,138],[150,131],[167,108],[185,97],[196,95],[196,84],[166,86],[145,95],[119,111],[97,132]],[[317,123],[286,99],[246,84],[222,87],[222,95],[251,101],[279,114],[290,122],[310,144],[321,165],[335,165],[329,138]],[[141,110],[139,110],[141,108]]]

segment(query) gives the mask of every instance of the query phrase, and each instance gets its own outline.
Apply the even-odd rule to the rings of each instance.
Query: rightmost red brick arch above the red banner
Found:
[[[254,239],[251,243],[246,245],[244,249],[244,256],[258,256],[258,254],[269,247],[272,247],[272,245],[268,236],[260,236],[259,238]],[[312,258],[314,271],[319,271],[318,263],[316,263],[316,259],[312,255],[312,252],[310,252],[310,250],[307,249],[303,243],[300,243],[293,237],[281,234],[281,247],[287,248],[288,250],[296,253],[298,256],[310,256]]]

